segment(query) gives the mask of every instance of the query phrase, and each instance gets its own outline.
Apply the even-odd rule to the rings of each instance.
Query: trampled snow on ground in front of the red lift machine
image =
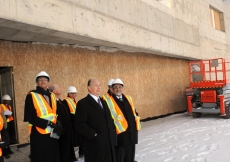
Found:
[[[230,119],[187,113],[142,122],[138,162],[229,162]]]

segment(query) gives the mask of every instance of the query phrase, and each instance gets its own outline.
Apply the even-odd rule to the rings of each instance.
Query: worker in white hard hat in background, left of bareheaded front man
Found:
[[[79,146],[78,154],[79,157],[84,156],[84,146],[83,146],[83,140],[82,135],[74,129],[74,120],[75,120],[75,112],[76,112],[76,97],[77,97],[77,89],[74,86],[69,86],[67,89],[67,97],[63,100],[63,103],[65,107],[67,107],[67,110],[69,112],[70,121],[72,125],[73,130],[73,140],[74,140],[74,146]]]

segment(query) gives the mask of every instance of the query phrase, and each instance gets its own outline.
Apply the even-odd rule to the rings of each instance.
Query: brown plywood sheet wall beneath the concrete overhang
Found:
[[[77,87],[77,100],[87,95],[87,81],[98,78],[102,94],[110,78],[121,78],[124,93],[133,97],[142,119],[186,109],[187,61],[145,53],[100,52],[60,45],[0,41],[0,66],[13,66],[19,142],[28,142],[23,123],[26,94],[35,88],[35,76],[45,70],[51,83],[63,89]]]

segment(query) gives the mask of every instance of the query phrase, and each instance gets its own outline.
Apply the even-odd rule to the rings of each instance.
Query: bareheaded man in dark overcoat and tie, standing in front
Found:
[[[83,135],[85,162],[115,162],[115,130],[107,104],[99,95],[97,79],[88,81],[89,94],[78,101],[76,129]]]

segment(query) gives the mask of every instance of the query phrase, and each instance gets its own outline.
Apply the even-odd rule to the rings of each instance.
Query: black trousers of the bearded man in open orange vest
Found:
[[[117,162],[134,162],[135,144],[130,146],[115,146]]]

